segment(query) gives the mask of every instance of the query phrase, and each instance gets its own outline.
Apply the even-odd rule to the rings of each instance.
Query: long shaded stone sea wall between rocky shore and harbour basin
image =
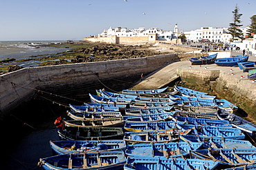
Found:
[[[64,64],[23,68],[0,76],[0,113],[15,108],[35,94],[36,89],[62,88],[62,86],[98,82],[110,77],[125,79],[139,77],[157,70],[178,59],[176,54],[158,55],[138,59],[121,59],[106,62]]]

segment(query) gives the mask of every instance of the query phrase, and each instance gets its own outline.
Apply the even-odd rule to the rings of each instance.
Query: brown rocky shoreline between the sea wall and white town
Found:
[[[36,66],[51,66],[60,64],[74,64],[81,62],[102,62],[116,59],[140,58],[154,55],[163,55],[170,53],[179,53],[179,61],[188,60],[183,53],[193,51],[181,46],[170,44],[146,44],[146,45],[123,45],[123,44],[104,44],[79,41],[74,44],[55,44],[48,45],[57,48],[67,48],[64,53],[54,55],[30,56],[28,59],[12,60],[1,62],[0,73],[8,73],[14,70],[24,68],[21,66],[26,62],[37,62]],[[203,56],[203,54],[199,54]],[[22,63],[22,64],[21,64]],[[35,64],[34,64],[35,65]]]

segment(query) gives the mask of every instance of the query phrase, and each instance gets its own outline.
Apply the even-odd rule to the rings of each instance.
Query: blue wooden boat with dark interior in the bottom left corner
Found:
[[[62,154],[41,158],[39,165],[46,170],[63,169],[122,169],[126,162],[123,151],[102,151],[86,154]]]

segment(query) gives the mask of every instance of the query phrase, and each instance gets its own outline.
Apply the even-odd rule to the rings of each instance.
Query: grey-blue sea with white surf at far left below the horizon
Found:
[[[0,60],[3,59],[28,59],[35,55],[51,55],[66,51],[65,48],[44,46],[60,44],[64,41],[0,41]]]

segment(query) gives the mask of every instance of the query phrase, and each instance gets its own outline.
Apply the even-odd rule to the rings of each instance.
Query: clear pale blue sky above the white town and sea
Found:
[[[0,0],[0,41],[79,40],[117,26],[228,27],[236,3],[245,27],[256,0]]]

